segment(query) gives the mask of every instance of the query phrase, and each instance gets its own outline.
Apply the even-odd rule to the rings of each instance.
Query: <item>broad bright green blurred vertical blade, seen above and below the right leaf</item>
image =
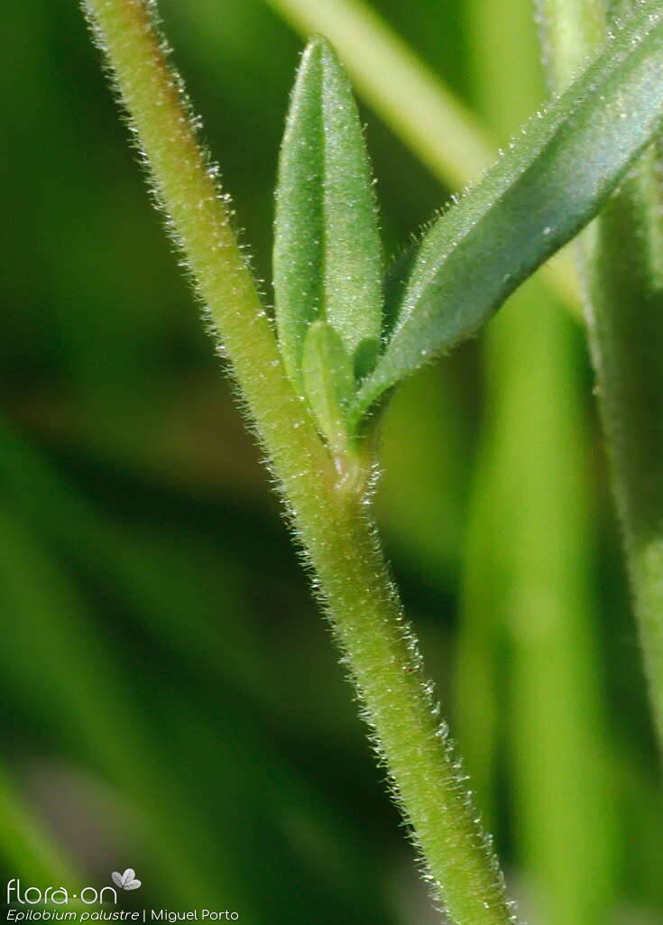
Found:
[[[471,21],[480,102],[509,138],[543,94],[532,10],[527,0],[498,8],[473,0]],[[508,745],[531,918],[605,925],[623,875],[597,664],[605,627],[597,619],[595,518],[584,477],[591,428],[579,332],[546,296],[540,280],[529,280],[482,339],[490,412],[473,489],[457,727],[490,808],[499,806],[495,746]],[[508,710],[499,682],[510,688]]]

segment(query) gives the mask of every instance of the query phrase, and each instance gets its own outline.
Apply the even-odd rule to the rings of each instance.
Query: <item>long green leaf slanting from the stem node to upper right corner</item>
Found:
[[[646,0],[571,88],[426,234],[394,333],[350,411],[470,337],[595,216],[663,114],[663,9]]]

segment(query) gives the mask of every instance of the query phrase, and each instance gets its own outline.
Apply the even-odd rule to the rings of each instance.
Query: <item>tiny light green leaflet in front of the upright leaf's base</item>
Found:
[[[354,395],[354,376],[343,341],[325,321],[314,321],[309,327],[301,372],[316,424],[329,449],[343,454],[348,443],[346,417]]]

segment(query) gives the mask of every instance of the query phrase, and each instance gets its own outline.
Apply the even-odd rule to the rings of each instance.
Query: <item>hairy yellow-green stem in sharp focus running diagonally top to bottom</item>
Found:
[[[86,0],[203,301],[262,438],[294,530],[454,925],[506,925],[504,884],[382,558],[367,498],[338,474],[285,374],[270,322],[143,0]]]

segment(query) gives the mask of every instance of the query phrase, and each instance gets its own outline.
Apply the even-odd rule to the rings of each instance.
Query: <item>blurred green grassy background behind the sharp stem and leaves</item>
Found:
[[[301,36],[262,0],[159,6],[269,280]],[[373,6],[496,140],[540,104],[529,0]],[[128,907],[434,922],[80,10],[4,8],[0,882],[131,866]],[[395,254],[451,190],[362,117]],[[582,325],[534,279],[399,391],[381,450],[387,553],[534,925],[663,917],[592,388]]]

